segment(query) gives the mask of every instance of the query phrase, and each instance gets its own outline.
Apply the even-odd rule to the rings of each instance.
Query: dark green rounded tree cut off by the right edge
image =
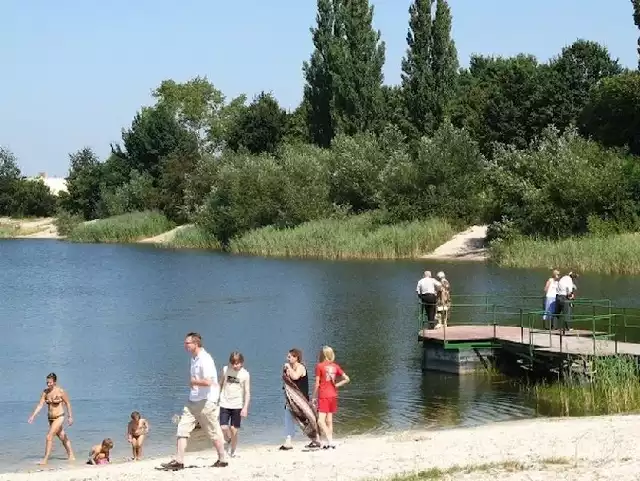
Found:
[[[580,118],[583,134],[640,155],[640,72],[605,78],[591,91]]]

